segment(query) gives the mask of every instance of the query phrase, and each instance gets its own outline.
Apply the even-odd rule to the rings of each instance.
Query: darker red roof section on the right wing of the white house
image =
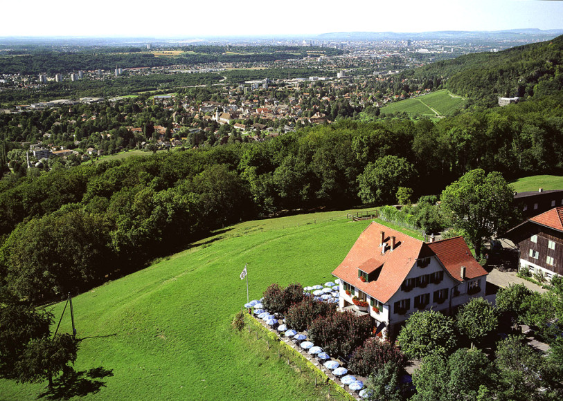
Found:
[[[474,279],[488,274],[487,270],[483,269],[483,266],[475,260],[462,236],[429,243],[428,246],[438,256],[449,274],[458,281],[463,281],[461,266],[465,266],[465,279]]]

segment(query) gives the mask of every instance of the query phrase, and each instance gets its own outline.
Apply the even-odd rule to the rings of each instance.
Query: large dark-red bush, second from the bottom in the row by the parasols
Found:
[[[334,311],[315,319],[309,328],[309,337],[329,355],[348,357],[366,341],[372,330],[369,316]]]

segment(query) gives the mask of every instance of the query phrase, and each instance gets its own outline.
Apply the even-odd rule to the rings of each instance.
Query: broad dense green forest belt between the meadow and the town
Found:
[[[438,122],[342,119],[263,142],[231,136],[142,158],[20,169],[0,182],[0,277],[42,303],[256,216],[393,204],[405,193],[415,201],[476,168],[561,174],[562,102],[548,96]],[[1,143],[6,160],[11,142]]]

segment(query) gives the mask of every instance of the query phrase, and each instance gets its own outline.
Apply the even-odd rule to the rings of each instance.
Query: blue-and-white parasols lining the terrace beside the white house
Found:
[[[338,302],[338,290],[339,283],[334,283],[332,281],[325,283],[324,286],[319,285],[303,288],[305,295],[313,295],[316,298],[318,297],[321,301],[329,302],[330,299],[335,299],[334,302]],[[334,295],[334,292],[336,292],[336,295]],[[301,349],[303,349],[303,351],[307,351],[307,353],[316,357],[326,369],[332,371],[334,376],[339,377],[341,383],[346,384],[348,389],[351,391],[359,391],[361,398],[369,398],[370,393],[368,393],[368,389],[364,389],[364,382],[357,380],[355,376],[348,375],[348,369],[340,366],[340,362],[331,360],[330,355],[323,352],[323,348],[315,346],[310,341],[305,341],[307,337],[304,334],[297,333],[296,330],[287,328],[287,325],[285,324],[278,325],[278,319],[276,319],[274,315],[271,315],[267,310],[263,309],[261,301],[262,299],[260,299],[260,301],[250,301],[248,304],[244,304],[244,308],[254,308],[253,313],[256,317],[265,321],[268,326],[276,328],[278,332],[283,333],[283,335],[285,335],[288,339],[292,339]]]

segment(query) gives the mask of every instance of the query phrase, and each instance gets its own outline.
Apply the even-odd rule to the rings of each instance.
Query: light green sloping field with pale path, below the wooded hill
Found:
[[[465,102],[465,98],[452,95],[448,91],[443,90],[388,104],[382,107],[381,113],[404,112],[409,115],[420,115],[421,117],[437,117],[451,115],[454,111],[461,109]]]

